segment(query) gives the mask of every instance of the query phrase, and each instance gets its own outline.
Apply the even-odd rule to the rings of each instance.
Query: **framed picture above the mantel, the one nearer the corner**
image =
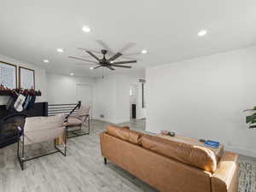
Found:
[[[19,67],[19,88],[36,89],[35,71],[26,67]]]

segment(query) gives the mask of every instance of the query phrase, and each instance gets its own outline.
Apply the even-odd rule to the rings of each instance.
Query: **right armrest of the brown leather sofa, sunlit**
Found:
[[[212,174],[212,192],[238,192],[239,166],[237,154],[225,152]]]

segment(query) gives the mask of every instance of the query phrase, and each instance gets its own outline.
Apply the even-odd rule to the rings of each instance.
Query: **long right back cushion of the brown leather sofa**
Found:
[[[211,173],[217,170],[217,157],[208,148],[149,135],[143,135],[141,143],[143,148],[178,160],[184,164],[196,166]]]

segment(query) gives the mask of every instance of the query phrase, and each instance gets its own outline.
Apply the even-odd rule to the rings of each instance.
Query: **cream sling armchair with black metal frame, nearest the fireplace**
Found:
[[[33,160],[45,155],[54,154],[60,152],[66,156],[67,152],[67,139],[66,139],[66,126],[64,124],[65,115],[58,114],[51,117],[31,117],[26,118],[24,129],[18,127],[18,132],[21,137],[18,136],[18,151],[17,156],[20,161],[21,169],[24,170],[24,163],[28,160]],[[55,138],[62,137],[64,139],[64,152],[61,151],[55,144]],[[49,154],[39,155],[26,159],[25,147],[34,143],[42,143],[47,141],[54,141],[55,151]],[[21,144],[21,156],[20,156],[20,144]],[[63,149],[62,149],[63,150]]]

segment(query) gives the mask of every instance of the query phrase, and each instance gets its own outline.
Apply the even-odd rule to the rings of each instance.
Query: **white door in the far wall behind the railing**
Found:
[[[77,101],[81,101],[82,105],[90,106],[90,116],[92,111],[92,95],[90,84],[77,84]]]

